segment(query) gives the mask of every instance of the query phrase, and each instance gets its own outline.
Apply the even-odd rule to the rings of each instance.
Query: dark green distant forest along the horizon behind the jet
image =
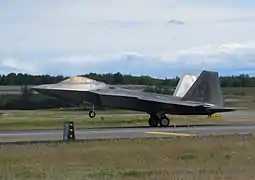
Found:
[[[98,81],[103,81],[108,84],[121,85],[149,85],[149,86],[176,86],[179,77],[158,79],[149,76],[132,76],[121,73],[97,74],[90,73],[80,75]],[[50,75],[29,75],[15,74],[0,75],[0,85],[39,85],[52,84],[67,79],[67,76],[50,76]],[[255,87],[255,77],[241,74],[238,76],[223,76],[220,77],[221,87]]]

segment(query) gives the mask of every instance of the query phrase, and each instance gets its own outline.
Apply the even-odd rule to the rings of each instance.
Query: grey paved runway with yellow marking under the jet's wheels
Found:
[[[116,138],[151,138],[171,136],[207,136],[230,134],[253,134],[255,123],[225,124],[225,125],[198,125],[193,127],[115,127],[76,129],[77,140],[88,139],[116,139]],[[8,130],[0,131],[0,142],[35,142],[60,141],[63,139],[63,130]]]

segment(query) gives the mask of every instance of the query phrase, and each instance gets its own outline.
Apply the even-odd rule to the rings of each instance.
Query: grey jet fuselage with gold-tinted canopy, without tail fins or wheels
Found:
[[[79,81],[77,82],[75,79],[70,78],[56,84],[35,86],[32,89],[39,93],[73,103],[88,102],[95,106],[143,112],[163,111],[168,114],[179,115],[211,114],[211,112],[209,112],[211,105],[197,107],[174,104],[174,102],[181,101],[181,98],[177,96],[120,88],[118,86],[108,85],[88,78],[78,80]],[[153,99],[153,101],[144,101],[141,99]],[[162,103],[161,101],[169,103]],[[200,102],[189,103],[201,105]],[[219,110],[220,109],[218,108],[217,111]],[[211,109],[211,111],[213,110]]]

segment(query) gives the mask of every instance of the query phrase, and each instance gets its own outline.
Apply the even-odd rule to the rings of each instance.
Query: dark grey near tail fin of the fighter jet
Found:
[[[182,100],[223,106],[218,72],[203,71]]]

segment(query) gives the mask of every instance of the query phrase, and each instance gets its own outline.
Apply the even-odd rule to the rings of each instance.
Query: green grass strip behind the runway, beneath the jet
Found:
[[[64,111],[64,110],[27,110],[27,111],[4,111],[0,115],[0,130],[5,129],[58,129],[63,128],[63,122],[72,120],[76,128],[98,126],[137,126],[148,125],[147,114],[116,115],[116,113],[131,113],[130,111],[103,111],[104,115],[98,114],[90,118],[87,111]],[[114,115],[115,114],[115,115]],[[205,116],[171,116],[171,124],[214,124],[226,123],[224,118],[208,119]]]

